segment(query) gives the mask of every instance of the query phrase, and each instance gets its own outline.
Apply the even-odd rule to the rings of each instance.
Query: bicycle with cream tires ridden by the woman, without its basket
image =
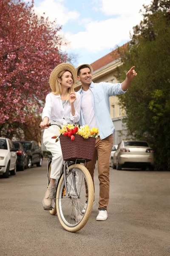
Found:
[[[48,126],[57,125],[51,123]],[[48,156],[47,182],[50,183],[52,156]],[[85,167],[86,160],[77,158],[76,161],[63,161],[60,177],[55,182],[56,192],[52,199],[49,210],[51,215],[57,213],[59,222],[65,230],[77,232],[87,223],[94,203],[94,185],[88,169]],[[84,165],[83,165],[84,164]],[[82,215],[86,198],[86,188],[88,189],[88,204]],[[75,215],[76,213],[76,215]],[[77,214],[81,214],[79,220]]]

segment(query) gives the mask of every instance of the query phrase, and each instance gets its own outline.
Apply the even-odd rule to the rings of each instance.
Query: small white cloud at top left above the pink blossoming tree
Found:
[[[40,2],[39,6],[35,6],[34,9],[39,15],[45,12],[45,17],[49,17],[51,21],[57,18],[57,23],[60,25],[64,25],[69,20],[76,20],[79,17],[78,12],[69,11],[64,6],[64,0],[44,0]]]

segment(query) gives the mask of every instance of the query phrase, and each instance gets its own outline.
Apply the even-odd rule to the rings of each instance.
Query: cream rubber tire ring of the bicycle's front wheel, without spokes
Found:
[[[61,189],[63,189],[63,180],[64,180],[64,175],[62,175],[60,177],[59,184],[57,187],[56,208],[57,208],[57,215],[58,215],[60,224],[62,225],[62,227],[65,230],[67,230],[69,232],[77,232],[77,231],[81,230],[82,227],[85,226],[85,224],[87,223],[87,221],[90,217],[90,214],[91,214],[91,211],[93,208],[93,203],[94,203],[94,185],[93,185],[91,175],[88,172],[88,169],[86,169],[85,166],[83,166],[81,164],[76,164],[76,166],[73,164],[73,165],[69,166],[69,170],[72,170],[72,169],[74,170],[74,167],[75,167],[75,169],[80,170],[80,172],[82,172],[83,175],[85,176],[86,183],[88,186],[88,205],[87,205],[87,209],[86,209],[81,221],[79,221],[78,224],[75,224],[74,226],[70,226],[67,224],[67,221],[65,220],[65,218],[62,217],[62,215],[63,215],[62,212],[60,212],[62,207],[60,204],[61,198],[59,198],[59,195],[61,195],[61,193],[62,193]]]

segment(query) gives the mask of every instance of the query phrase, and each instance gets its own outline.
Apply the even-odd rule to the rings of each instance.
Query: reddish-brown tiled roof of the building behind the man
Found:
[[[125,49],[126,47],[127,44],[124,44],[121,47],[119,47],[119,49]],[[99,60],[91,63],[91,67],[93,67],[93,71],[96,71],[99,68],[104,67],[105,65],[111,63],[112,61],[115,61],[118,58],[120,58],[120,54],[118,53],[118,49],[116,49],[108,53],[107,55],[103,56],[102,58],[99,58]]]

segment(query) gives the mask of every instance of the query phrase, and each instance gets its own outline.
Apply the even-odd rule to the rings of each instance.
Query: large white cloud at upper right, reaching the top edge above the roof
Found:
[[[111,49],[121,41],[129,41],[129,32],[133,33],[133,26],[142,20],[139,10],[142,4],[149,4],[150,0],[113,1],[100,0],[103,12],[119,15],[102,21],[91,21],[85,24],[86,31],[77,34],[65,33],[65,38],[71,42],[69,49],[86,49],[88,52],[99,52]],[[114,9],[113,9],[114,7]]]

